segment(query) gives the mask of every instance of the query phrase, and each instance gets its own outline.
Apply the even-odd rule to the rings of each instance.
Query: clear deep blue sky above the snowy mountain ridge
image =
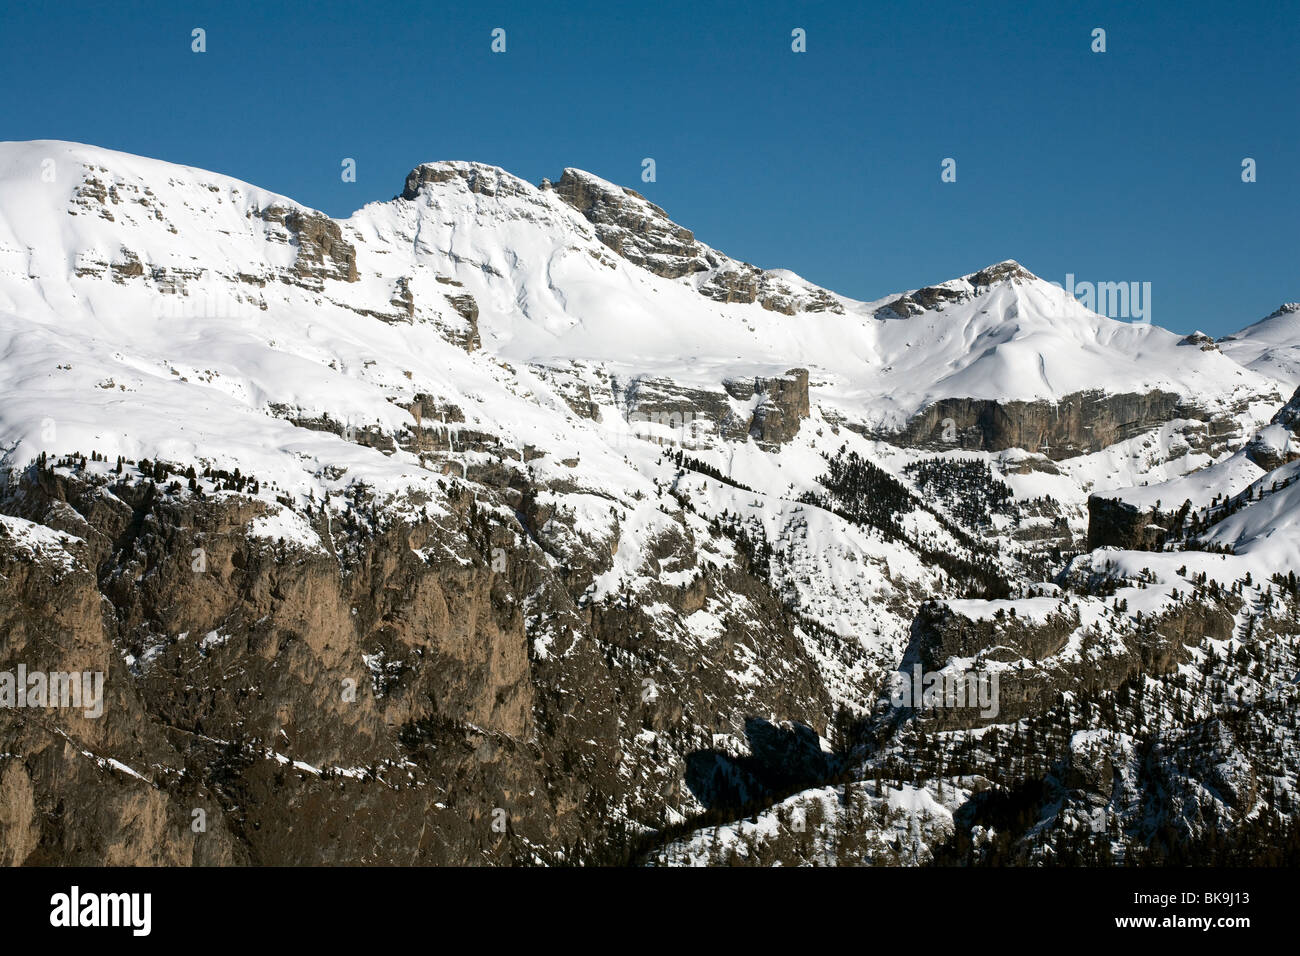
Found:
[[[0,139],[203,166],[334,216],[421,161],[581,166],[848,295],[1019,259],[1149,281],[1153,321],[1222,334],[1300,299],[1297,40],[1300,3],[1278,0],[9,0]]]

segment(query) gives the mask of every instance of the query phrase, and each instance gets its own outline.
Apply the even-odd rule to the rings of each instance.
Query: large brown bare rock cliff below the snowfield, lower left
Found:
[[[364,498],[307,514],[308,546],[239,496],[13,483],[5,511],[46,537],[0,535],[0,670],[101,671],[107,697],[98,721],[0,710],[5,861],[612,861],[616,808],[658,823],[711,799],[688,771],[716,735],[759,714],[824,730],[816,667],[741,567],[660,541],[694,572],[655,600],[751,609],[682,643],[645,605],[578,607],[618,542],[551,568],[563,528],[500,494],[524,538],[465,492],[438,520],[373,525]]]

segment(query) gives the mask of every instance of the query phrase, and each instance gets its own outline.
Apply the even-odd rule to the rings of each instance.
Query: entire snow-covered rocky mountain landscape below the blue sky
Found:
[[[0,672],[104,675],[0,680],[0,862],[1295,862],[1257,319],[857,302],[577,169],[333,220],[0,143]]]

